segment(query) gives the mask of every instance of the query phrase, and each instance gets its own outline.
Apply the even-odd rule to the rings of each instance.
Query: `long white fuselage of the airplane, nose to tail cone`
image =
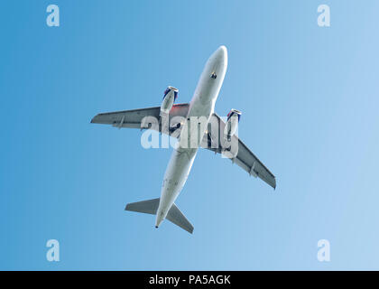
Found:
[[[225,46],[221,46],[210,56],[201,73],[195,94],[189,103],[187,119],[190,117],[205,117],[209,120],[213,114],[218,93],[225,78],[226,67],[227,51]],[[189,171],[198,153],[199,144],[206,129],[207,126],[189,126],[189,133],[187,130],[181,130],[180,142],[172,152],[170,162],[164,174],[161,200],[156,215],[156,227],[166,218],[172,204],[178,198],[181,189],[187,181]],[[193,140],[190,135],[193,134],[199,135],[197,145],[181,145],[183,137],[188,138],[188,144],[190,144],[191,140]]]

